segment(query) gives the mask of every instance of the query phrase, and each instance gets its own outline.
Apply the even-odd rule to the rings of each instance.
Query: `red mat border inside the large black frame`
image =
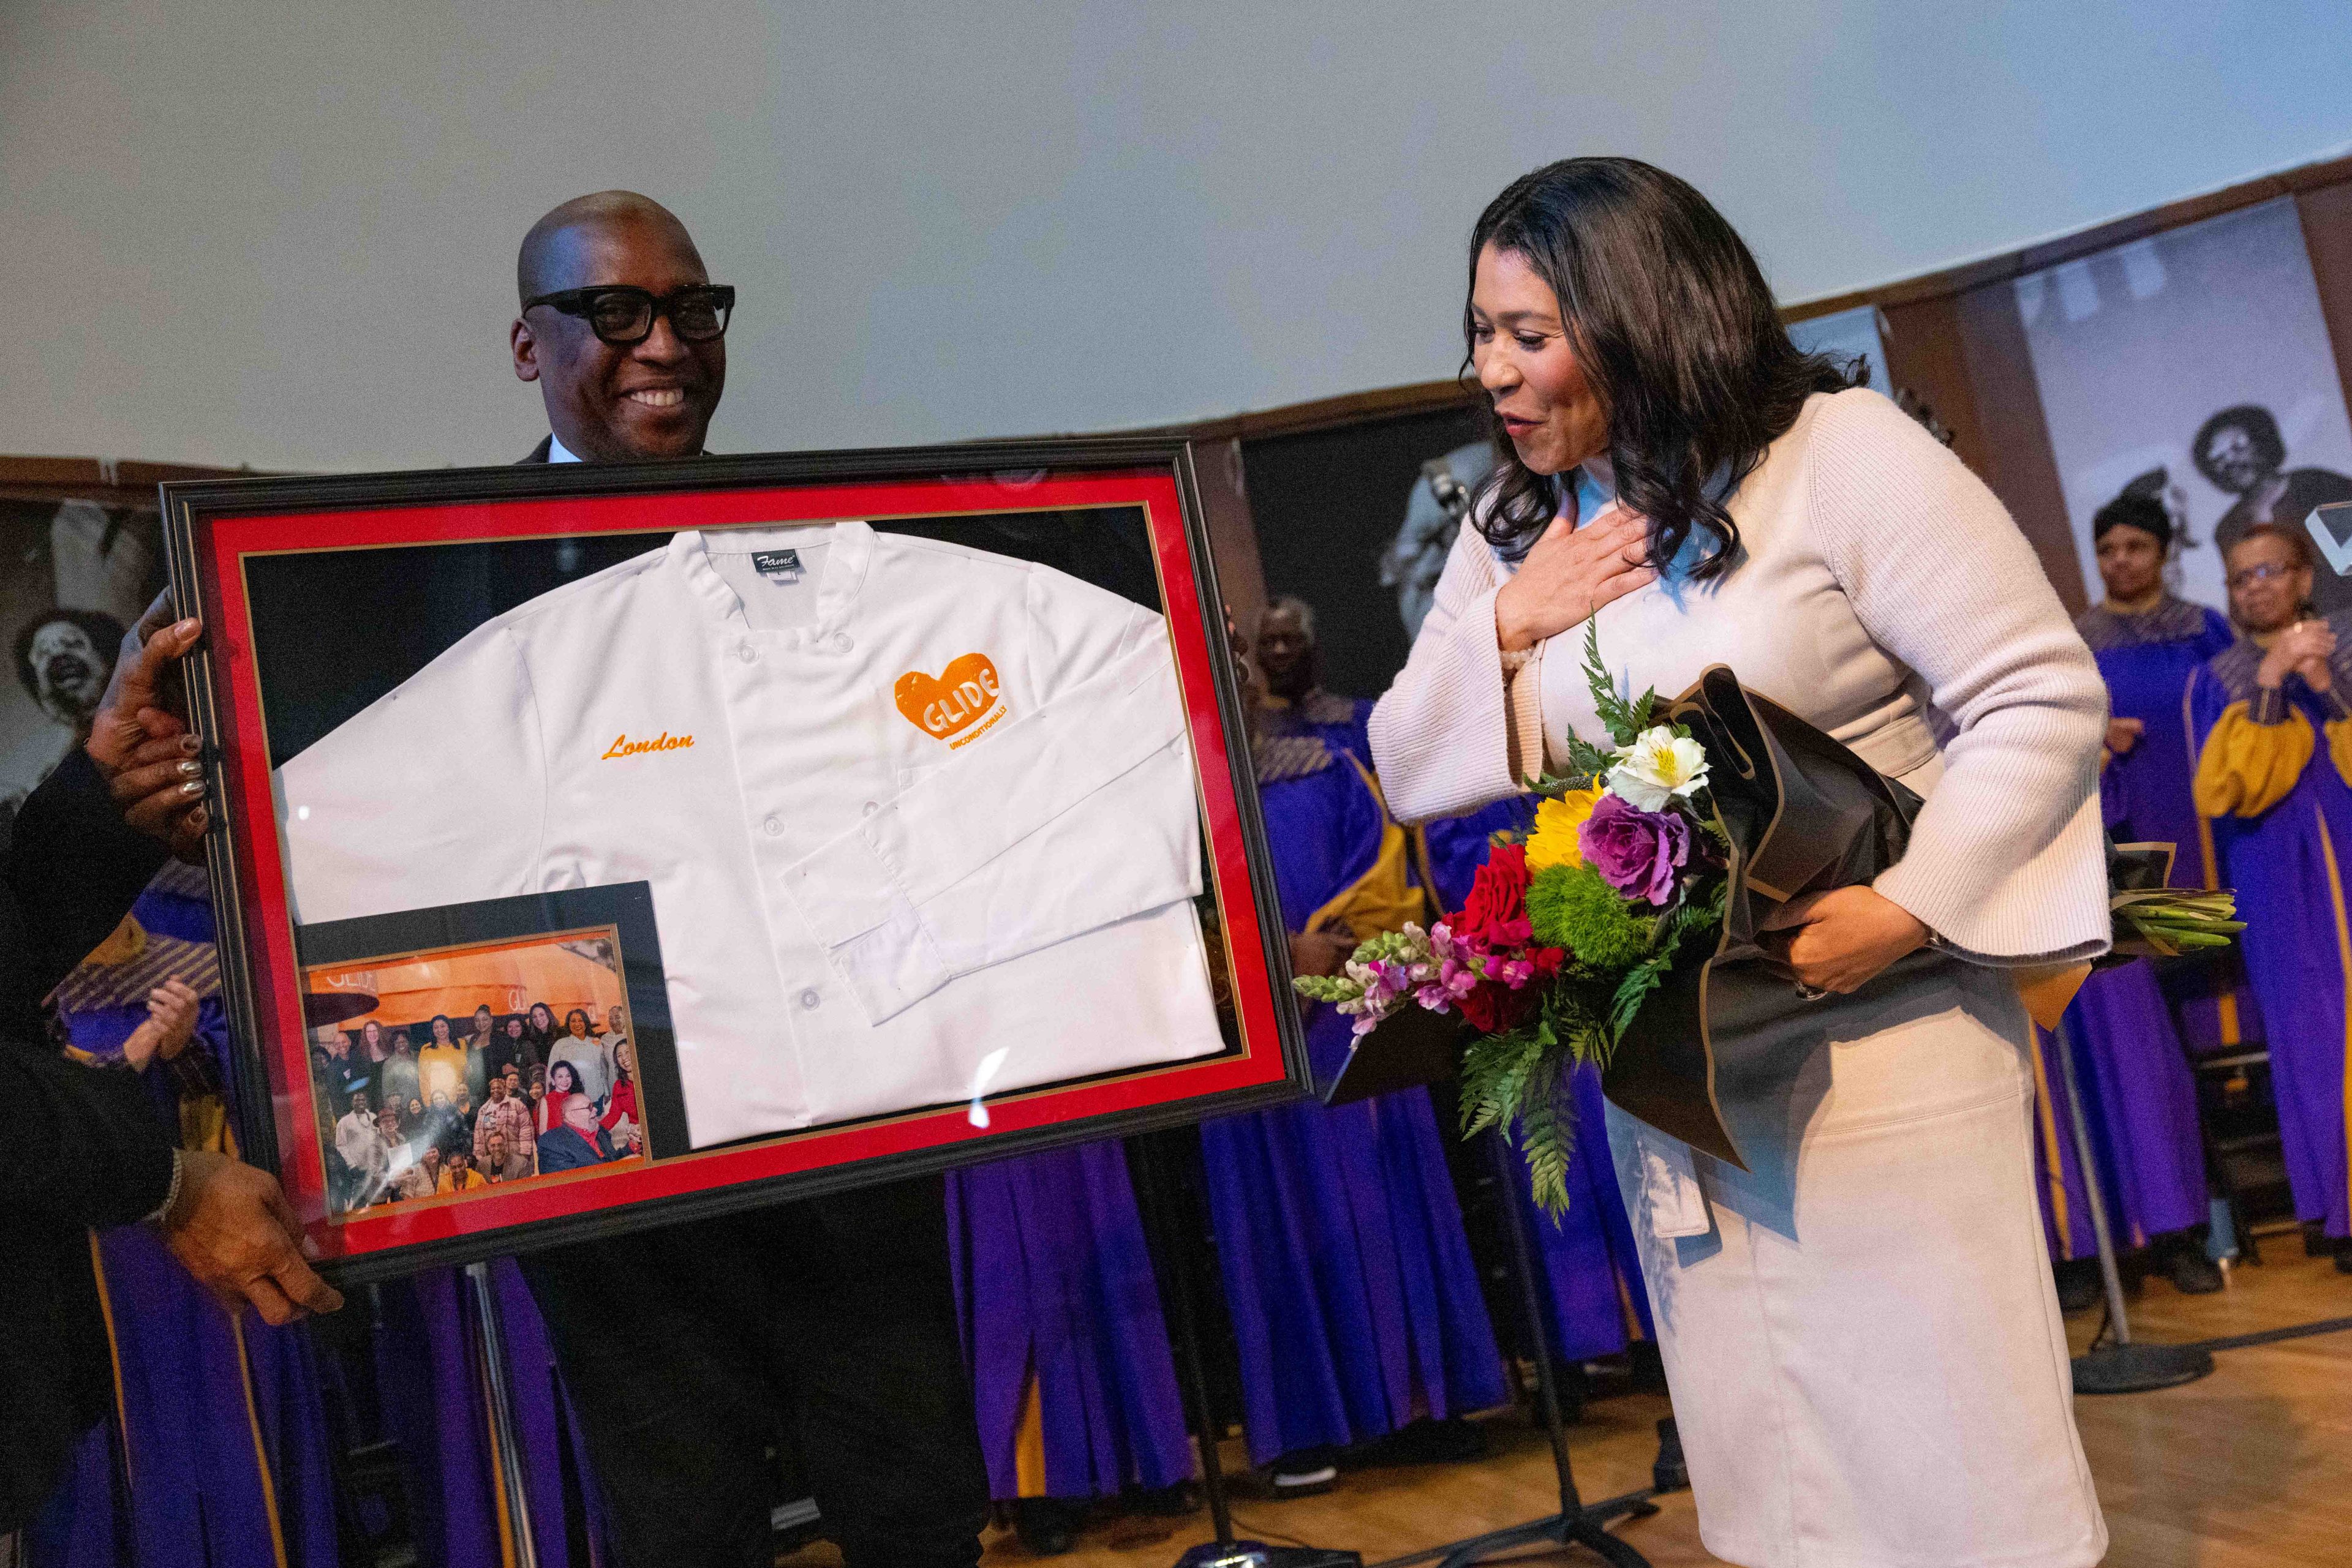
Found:
[[[950,517],[957,512],[1033,512],[1091,505],[1141,505],[1160,567],[1160,592],[1176,642],[1176,672],[1192,731],[1200,797],[1209,823],[1209,858],[1225,922],[1242,1053],[1202,1063],[1143,1067],[1070,1088],[1016,1091],[988,1100],[988,1126],[964,1105],[840,1128],[786,1133],[755,1145],[684,1154],[659,1164],[579,1171],[506,1192],[449,1201],[395,1204],[386,1213],[327,1220],[325,1154],[310,1103],[310,1044],[301,1023],[301,971],[287,919],[278,818],[270,799],[261,689],[254,672],[252,616],[242,559],[282,550],[365,550],[564,534],[724,529],[837,517]],[[649,545],[652,548],[652,545]],[[1216,717],[1209,646],[1192,550],[1183,531],[1176,482],[1167,473],[1112,473],[1000,484],[990,480],[894,480],[795,489],[689,491],[675,496],[593,496],[562,501],[477,501],[402,505],[367,512],[294,512],[221,517],[200,541],[198,571],[209,607],[207,646],[219,682],[219,736],[226,788],[235,802],[235,877],[245,905],[245,943],[254,971],[254,1013],[270,1072],[280,1180],[325,1258],[362,1258],[393,1246],[442,1241],[590,1208],[755,1182],[793,1171],[875,1159],[953,1143],[985,1143],[1016,1128],[1169,1105],[1284,1077],[1272,978],[1265,969],[1232,769]],[[1218,611],[1218,625],[1223,614]]]

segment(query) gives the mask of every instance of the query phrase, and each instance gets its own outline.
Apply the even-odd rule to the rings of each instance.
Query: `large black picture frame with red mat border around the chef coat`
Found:
[[[630,1194],[621,1201],[595,1206],[569,1206],[550,1211],[524,1206],[513,1220],[480,1225],[409,1225],[402,1239],[381,1246],[334,1246],[329,1220],[303,1208],[299,1171],[289,1164],[285,1138],[292,1126],[294,1095],[285,1081],[285,1063],[292,1053],[282,1039],[273,1039],[270,1009],[282,1009],[285,997],[273,987],[287,980],[270,966],[263,952],[263,922],[282,919],[282,889],[270,907],[270,891],[256,884],[254,865],[259,839],[275,835],[275,820],[263,820],[249,806],[259,790],[266,795],[266,731],[256,733],[252,715],[238,708],[235,682],[254,679],[252,637],[228,625],[238,614],[242,576],[223,581],[223,559],[233,550],[223,543],[223,527],[273,524],[287,534],[285,524],[315,522],[320,543],[306,548],[367,548],[353,543],[348,524],[353,517],[372,520],[369,527],[397,534],[402,517],[414,517],[419,538],[435,543],[433,520],[454,508],[496,508],[548,503],[557,510],[581,503],[590,512],[597,503],[659,501],[666,517],[691,512],[699,503],[748,491],[800,491],[826,487],[908,487],[910,496],[929,501],[997,491],[1007,498],[1033,494],[1056,484],[1120,484],[1136,482],[1155,496],[1169,496],[1174,517],[1160,517],[1145,508],[1145,527],[1162,569],[1164,614],[1176,639],[1178,668],[1197,672],[1202,684],[1185,682],[1188,726],[1195,762],[1204,785],[1204,832],[1207,832],[1207,879],[1216,898],[1216,933],[1225,943],[1225,971],[1235,1004],[1235,1030],[1244,1037],[1232,1063],[1249,1063],[1258,1077],[1240,1081],[1242,1074],[1202,1093],[1167,1093],[1164,1098],[1141,1098],[1129,1093],[1117,1107],[1105,1110],[1103,1088],[1096,1079],[1080,1079],[1047,1091],[1023,1091],[1007,1095],[1007,1105],[1018,1110],[1011,1126],[983,1135],[910,1138],[903,1147],[880,1147],[875,1138],[858,1145],[875,1145],[856,1157],[769,1168],[781,1154],[757,1173],[687,1182],[675,1190]],[[922,517],[985,517],[1016,512],[1014,505],[971,508],[960,512],[950,505],[929,503]],[[200,616],[207,623],[202,644],[183,661],[186,705],[193,729],[207,738],[207,783],[216,809],[207,830],[207,856],[212,893],[219,926],[223,1004],[230,1025],[235,1112],[242,1126],[245,1154],[278,1171],[296,1197],[315,1239],[322,1246],[325,1267],[346,1284],[405,1274],[419,1267],[468,1262],[485,1255],[517,1253],[541,1246],[588,1241],[604,1234],[670,1225],[741,1208],[790,1201],[854,1185],[898,1180],[946,1171],[962,1164],[1002,1159],[1023,1152],[1063,1147],[1094,1138],[1122,1138],[1167,1126],[1192,1124],[1207,1117],[1232,1114],[1268,1105],[1296,1103],[1312,1093],[1312,1074],[1305,1060],[1298,1009],[1289,999],[1289,952],[1279,900],[1275,896],[1272,870],[1265,851],[1265,830],[1258,818],[1256,780],[1247,745],[1242,689],[1223,625],[1223,595],[1216,583],[1216,567],[1200,501],[1200,484],[1192,449],[1178,440],[1124,440],[1124,437],[1068,437],[1030,442],[983,442],[969,447],[922,447],[922,449],[873,449],[873,451],[807,451],[762,456],[717,456],[677,463],[522,463],[510,468],[466,468],[390,475],[339,475],[339,477],[289,477],[289,480],[202,480],[167,482],[160,487],[165,522],[165,548],[172,574],[172,592],[183,616]],[[390,520],[390,522],[386,522]],[[677,527],[673,522],[656,524]],[[691,527],[691,524],[687,524]],[[875,520],[877,529],[884,527]],[[343,531],[339,531],[343,529]],[[623,531],[612,527],[583,529],[581,536]],[[548,538],[564,536],[560,529],[543,529]],[[238,557],[242,559],[242,557]],[[1167,562],[1181,559],[1181,574],[1167,574]],[[238,599],[240,602],[240,599]],[[1178,614],[1183,609],[1185,614]],[[1188,663],[1190,661],[1190,663]],[[242,663],[242,668],[240,668]],[[1214,715],[1214,736],[1204,733],[1202,715]],[[263,750],[254,750],[261,745]],[[1209,759],[1216,759],[1211,769]],[[1221,788],[1216,785],[1221,780]],[[275,853],[275,851],[270,851]],[[1225,867],[1225,870],[1221,870]],[[1228,875],[1240,867],[1240,877]],[[263,933],[266,936],[266,933]],[[296,971],[299,973],[299,971]],[[1204,1065],[1225,1058],[1204,1058]],[[1279,1070],[1277,1070],[1279,1067]],[[1127,1079],[1134,1074],[1110,1074]],[[1124,1093],[1124,1091],[1122,1091]],[[1073,1114],[1047,1114],[1051,1105],[1040,1100],[1065,1098]],[[990,1100],[990,1105],[997,1105]],[[873,1133],[877,1124],[908,1124],[936,1117],[955,1107],[922,1107],[896,1117],[842,1124],[835,1128],[809,1128],[779,1138],[748,1140],[699,1150],[689,1161],[710,1166],[727,1164],[757,1150],[779,1150],[811,1138],[840,1138],[849,1133]],[[936,1128],[934,1128],[936,1131]],[[887,1140],[884,1140],[887,1143]],[[847,1145],[844,1145],[847,1147]],[[689,1161],[670,1161],[663,1168],[682,1168]],[[757,1161],[753,1161],[757,1164]],[[750,1171],[739,1159],[739,1166]]]

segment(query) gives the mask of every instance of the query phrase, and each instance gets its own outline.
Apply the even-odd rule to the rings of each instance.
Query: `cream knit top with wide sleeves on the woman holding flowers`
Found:
[[[1621,689],[1672,696],[1729,665],[1926,797],[1879,893],[1980,961],[2103,952],[2107,691],[1992,491],[1889,400],[1851,390],[1804,404],[1731,515],[1740,559],[1724,578],[1668,571],[1602,607]],[[1517,792],[1512,764],[1536,759],[1515,757],[1512,708],[1541,712],[1552,745],[1571,726],[1602,736],[1581,625],[1505,682],[1494,599],[1508,571],[1477,529],[1461,531],[1371,715],[1399,820]]]

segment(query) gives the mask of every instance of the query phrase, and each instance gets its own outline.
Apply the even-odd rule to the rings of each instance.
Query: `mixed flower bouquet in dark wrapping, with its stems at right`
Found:
[[[1710,1020],[1752,1030],[1811,999],[1757,945],[1797,893],[1870,882],[1900,858],[1919,799],[1715,668],[1675,703],[1618,696],[1585,630],[1585,682],[1609,745],[1566,738],[1524,835],[1496,835],[1458,912],[1359,945],[1338,976],[1294,980],[1364,1037],[1406,1006],[1477,1030],[1461,1063],[1463,1135],[1501,1128],[1536,1201],[1569,1204],[1564,1079],[1740,1164],[1715,1112]],[[2117,893],[2119,936],[2227,943],[2227,893]],[[2161,882],[2161,877],[2157,879]],[[2143,947],[2145,950],[2145,947]],[[1710,985],[1700,976],[1712,973]],[[1637,1058],[1637,1060],[1623,1060]]]

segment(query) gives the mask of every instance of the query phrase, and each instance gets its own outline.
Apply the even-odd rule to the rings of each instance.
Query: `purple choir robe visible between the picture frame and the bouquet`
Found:
[[[1371,776],[1315,736],[1265,743],[1258,809],[1291,931],[1395,872]],[[1348,1041],[1345,1016],[1310,1009],[1319,1079],[1338,1072]],[[1247,1112],[1200,1135],[1254,1462],[1503,1403],[1503,1361],[1425,1088]]]

